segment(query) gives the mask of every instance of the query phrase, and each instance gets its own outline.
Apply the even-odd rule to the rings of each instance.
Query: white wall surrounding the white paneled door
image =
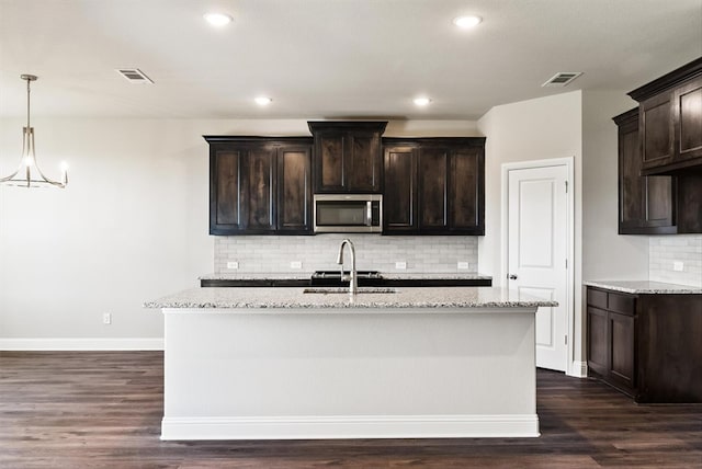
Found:
[[[648,277],[648,237],[618,234],[618,142],[612,117],[636,103],[623,91],[574,91],[497,106],[478,121],[486,144],[486,236],[478,271],[505,283],[500,247],[500,167],[574,157],[575,343],[585,361],[582,289],[586,279]]]

